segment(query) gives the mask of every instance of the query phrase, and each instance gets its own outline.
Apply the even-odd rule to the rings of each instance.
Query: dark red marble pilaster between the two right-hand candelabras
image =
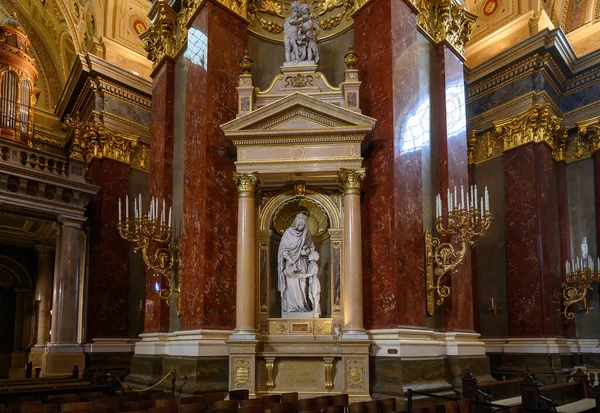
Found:
[[[503,158],[509,333],[562,335],[552,304],[561,271],[554,161],[544,144],[512,149]]]

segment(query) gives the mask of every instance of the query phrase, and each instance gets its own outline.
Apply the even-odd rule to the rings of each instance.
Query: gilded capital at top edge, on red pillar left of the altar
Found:
[[[169,6],[168,0],[156,0],[148,16],[152,24],[140,35],[140,38],[144,50],[148,52],[148,59],[156,66],[165,57],[175,56],[177,13]]]

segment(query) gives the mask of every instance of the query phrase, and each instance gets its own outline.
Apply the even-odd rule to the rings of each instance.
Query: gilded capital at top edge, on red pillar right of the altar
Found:
[[[413,0],[417,23],[436,44],[447,42],[460,54],[471,38],[477,16],[457,0]]]

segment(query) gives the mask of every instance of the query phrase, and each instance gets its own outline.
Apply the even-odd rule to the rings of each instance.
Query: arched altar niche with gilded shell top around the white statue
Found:
[[[283,334],[295,328],[298,330],[297,333],[303,334],[311,332],[332,334],[334,327],[339,330],[343,322],[341,317],[341,198],[339,193],[307,189],[304,184],[297,184],[295,187],[279,193],[267,192],[263,197],[269,198],[263,198],[264,207],[259,210],[261,225],[258,232],[260,332]],[[322,204],[324,202],[326,202],[325,205]],[[285,261],[282,259],[282,255],[287,251],[282,248],[282,237],[295,222],[302,221],[303,217],[306,217],[306,230],[310,234],[309,244],[313,245],[312,251],[318,254],[316,280],[306,277],[306,281],[304,281],[301,271],[298,272],[297,277],[292,274],[291,279],[286,280],[286,274],[282,274],[286,268],[282,267],[287,266],[287,263],[282,262]],[[299,249],[300,260],[302,260],[302,246],[299,246]],[[312,261],[310,245],[305,250],[304,256],[310,266]],[[299,263],[299,267],[302,265]],[[317,286],[320,286],[318,306],[314,304]],[[298,302],[298,291],[294,290],[297,288],[300,288],[300,293],[306,297],[304,302]],[[286,297],[286,295],[290,297]],[[286,303],[286,300],[291,302]],[[302,304],[306,304],[306,308],[302,308]],[[314,330],[315,326],[315,323],[310,320],[307,320],[305,324],[299,323],[299,319],[303,318],[321,319],[321,322],[316,323],[317,331],[302,331]],[[288,326],[289,323],[286,323],[284,319],[294,319],[294,322]],[[283,325],[286,327],[285,330]]]

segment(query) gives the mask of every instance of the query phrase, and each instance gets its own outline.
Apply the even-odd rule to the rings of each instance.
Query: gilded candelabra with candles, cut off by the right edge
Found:
[[[600,257],[598,258],[598,269],[600,269]],[[594,260],[590,257],[581,259],[577,257],[571,262],[565,263],[565,282],[561,283],[560,288],[554,290],[554,302],[559,305],[558,312],[568,323],[575,318],[575,312],[572,308],[575,304],[582,304],[579,309],[588,314],[593,307],[587,305],[587,293],[594,289],[594,285],[600,283],[600,274],[594,270]]]

